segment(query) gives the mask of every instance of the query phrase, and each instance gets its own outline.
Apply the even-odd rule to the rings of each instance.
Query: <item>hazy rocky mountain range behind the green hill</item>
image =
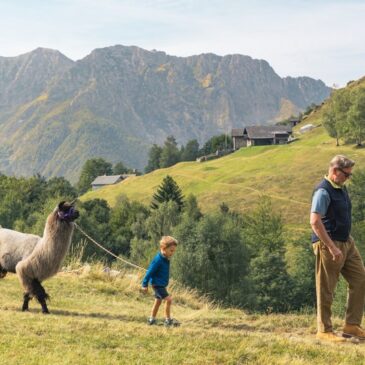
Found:
[[[114,46],[76,62],[42,48],[0,57],[0,172],[74,182],[92,157],[142,169],[150,146],[168,135],[203,143],[288,117],[329,92],[320,80],[280,78],[243,55]]]

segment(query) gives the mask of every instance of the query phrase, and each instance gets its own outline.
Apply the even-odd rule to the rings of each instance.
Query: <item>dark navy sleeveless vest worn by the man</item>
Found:
[[[314,191],[321,188],[328,192],[331,199],[327,212],[322,217],[322,223],[332,240],[347,241],[351,231],[352,206],[346,187],[336,189],[330,182],[323,179]],[[317,241],[319,241],[319,238],[312,232],[312,242]]]

